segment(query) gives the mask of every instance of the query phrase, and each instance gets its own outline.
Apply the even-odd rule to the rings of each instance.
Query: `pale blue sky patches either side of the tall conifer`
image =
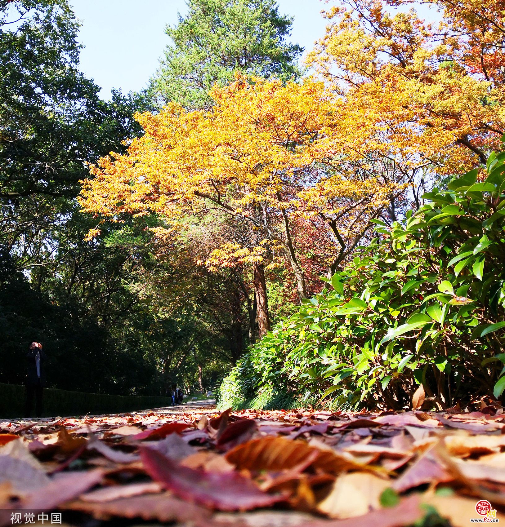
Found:
[[[71,0],[82,27],[81,70],[102,87],[109,99],[112,87],[123,93],[142,89],[158,67],[169,43],[166,24],[186,14],[185,0]],[[295,17],[291,41],[309,51],[323,36],[327,21],[321,0],[278,0],[279,11]]]

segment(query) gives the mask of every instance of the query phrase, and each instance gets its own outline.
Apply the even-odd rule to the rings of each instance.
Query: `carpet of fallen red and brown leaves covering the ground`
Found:
[[[83,527],[460,527],[482,499],[505,521],[504,474],[496,404],[0,421],[0,526],[31,510]]]

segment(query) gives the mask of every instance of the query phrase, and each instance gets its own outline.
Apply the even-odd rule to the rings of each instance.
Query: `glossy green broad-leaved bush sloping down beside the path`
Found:
[[[447,408],[505,388],[505,152],[388,227],[252,346],[220,405],[278,394],[330,407]]]

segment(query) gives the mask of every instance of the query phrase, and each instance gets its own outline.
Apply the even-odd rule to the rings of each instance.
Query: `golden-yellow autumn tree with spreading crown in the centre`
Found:
[[[125,155],[111,154],[92,167],[93,178],[83,182],[83,210],[109,217],[155,213],[165,224],[154,229],[158,236],[183,236],[209,211],[226,214],[247,223],[250,235],[247,243],[235,235],[220,243],[208,263],[277,265],[282,255],[304,298],[296,253],[304,233],[293,230],[293,216],[319,215],[330,235],[358,240],[399,188],[345,167],[362,158],[358,145],[373,134],[366,112],[348,114],[339,97],[311,79],[283,86],[238,78],[215,88],[212,99],[211,111],[169,104],[157,115],[137,115],[144,135]],[[258,320],[268,320],[264,277],[255,288]]]

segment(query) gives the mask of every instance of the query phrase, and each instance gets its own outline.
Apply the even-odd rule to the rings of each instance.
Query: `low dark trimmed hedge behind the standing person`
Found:
[[[23,417],[25,397],[26,388],[24,386],[0,383],[0,417]],[[42,416],[118,414],[169,406],[171,403],[171,398],[156,395],[104,395],[44,388],[44,411]],[[34,411],[35,398],[33,400],[32,417]]]

